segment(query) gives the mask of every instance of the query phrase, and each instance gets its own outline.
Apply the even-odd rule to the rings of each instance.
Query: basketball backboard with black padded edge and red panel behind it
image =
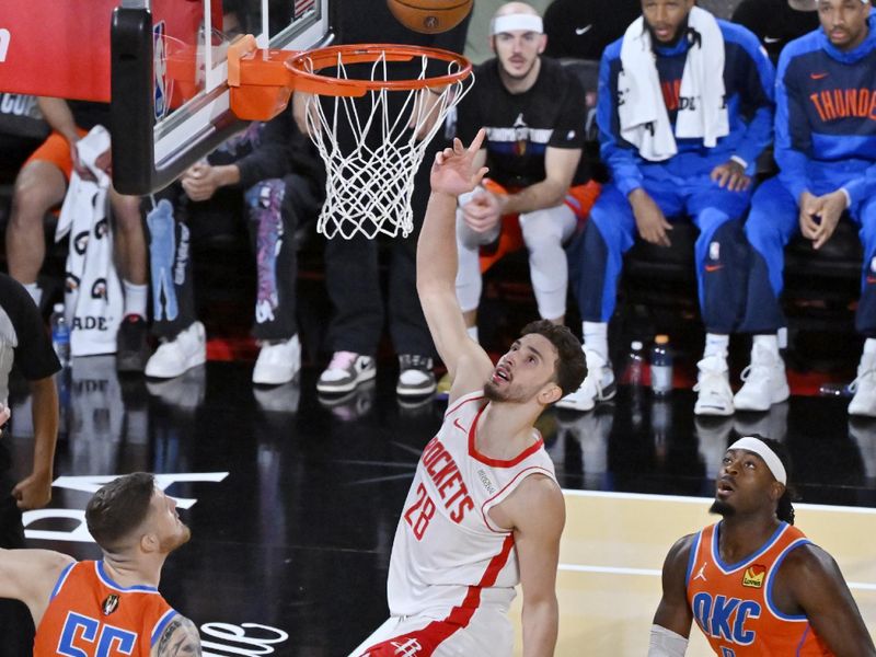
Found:
[[[331,0],[28,0],[0,11],[0,92],[110,102],[113,177],[159,189],[245,126],[226,50],[327,45]]]

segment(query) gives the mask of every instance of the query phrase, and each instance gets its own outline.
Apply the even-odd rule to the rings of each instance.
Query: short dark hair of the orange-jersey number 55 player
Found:
[[[102,486],[85,507],[85,523],[94,541],[113,552],[149,514],[155,477],[134,472]]]

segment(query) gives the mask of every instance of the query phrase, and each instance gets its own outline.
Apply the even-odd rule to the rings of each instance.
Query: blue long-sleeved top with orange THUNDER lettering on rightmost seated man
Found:
[[[844,187],[851,205],[876,193],[876,16],[855,49],[837,49],[822,30],[779,58],[775,160],[799,200]]]

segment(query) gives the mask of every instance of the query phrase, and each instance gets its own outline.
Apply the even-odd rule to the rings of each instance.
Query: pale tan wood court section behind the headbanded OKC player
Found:
[[[565,491],[566,528],[560,546],[557,657],[642,657],[660,600],[660,569],[672,543],[716,521],[711,499],[632,493]],[[795,505],[796,522],[827,550],[849,583],[876,637],[876,509]],[[516,655],[522,655],[520,596],[511,609]],[[713,655],[691,630],[691,657]]]

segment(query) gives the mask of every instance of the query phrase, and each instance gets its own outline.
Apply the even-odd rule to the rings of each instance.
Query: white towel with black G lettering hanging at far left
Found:
[[[82,180],[76,171],[61,206],[55,240],[70,233],[67,254],[65,314],[73,356],[114,354],[122,322],[122,283],[113,264],[113,234],[107,216],[110,176],[95,165],[110,148],[110,134],[94,127],[77,142],[80,162],[96,182]]]

